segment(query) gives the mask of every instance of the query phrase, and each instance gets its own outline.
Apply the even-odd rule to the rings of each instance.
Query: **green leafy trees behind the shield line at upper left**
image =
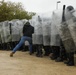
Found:
[[[0,22],[12,19],[31,19],[36,13],[28,12],[24,9],[21,2],[0,1]]]

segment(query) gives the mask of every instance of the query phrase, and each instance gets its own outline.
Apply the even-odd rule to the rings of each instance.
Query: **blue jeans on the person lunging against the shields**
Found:
[[[22,36],[20,42],[16,45],[13,49],[13,52],[16,52],[24,43],[25,41],[29,42],[29,50],[32,52],[32,38],[27,36]]]

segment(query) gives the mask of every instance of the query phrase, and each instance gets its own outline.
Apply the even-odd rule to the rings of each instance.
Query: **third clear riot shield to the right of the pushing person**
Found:
[[[60,12],[60,10],[58,12]],[[56,25],[57,25],[56,21],[57,21],[57,19],[55,19],[55,12],[53,12],[52,22],[51,22],[51,37],[50,37],[51,46],[60,46],[60,35],[59,35],[57,27],[56,27]],[[60,22],[60,20],[58,22]]]

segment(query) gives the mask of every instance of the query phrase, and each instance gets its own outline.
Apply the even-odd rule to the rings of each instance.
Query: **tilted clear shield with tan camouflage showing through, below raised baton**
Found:
[[[60,25],[57,25],[57,27],[58,27],[58,31],[59,31],[59,34],[61,36],[61,39],[63,41],[66,51],[67,52],[74,51],[75,44],[71,36],[71,33],[68,29],[68,24],[64,22]]]

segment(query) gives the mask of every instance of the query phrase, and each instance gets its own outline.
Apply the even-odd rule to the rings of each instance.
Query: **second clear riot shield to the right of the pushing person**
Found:
[[[50,46],[50,28],[51,19],[43,18],[42,21],[42,30],[43,30],[43,45]]]

